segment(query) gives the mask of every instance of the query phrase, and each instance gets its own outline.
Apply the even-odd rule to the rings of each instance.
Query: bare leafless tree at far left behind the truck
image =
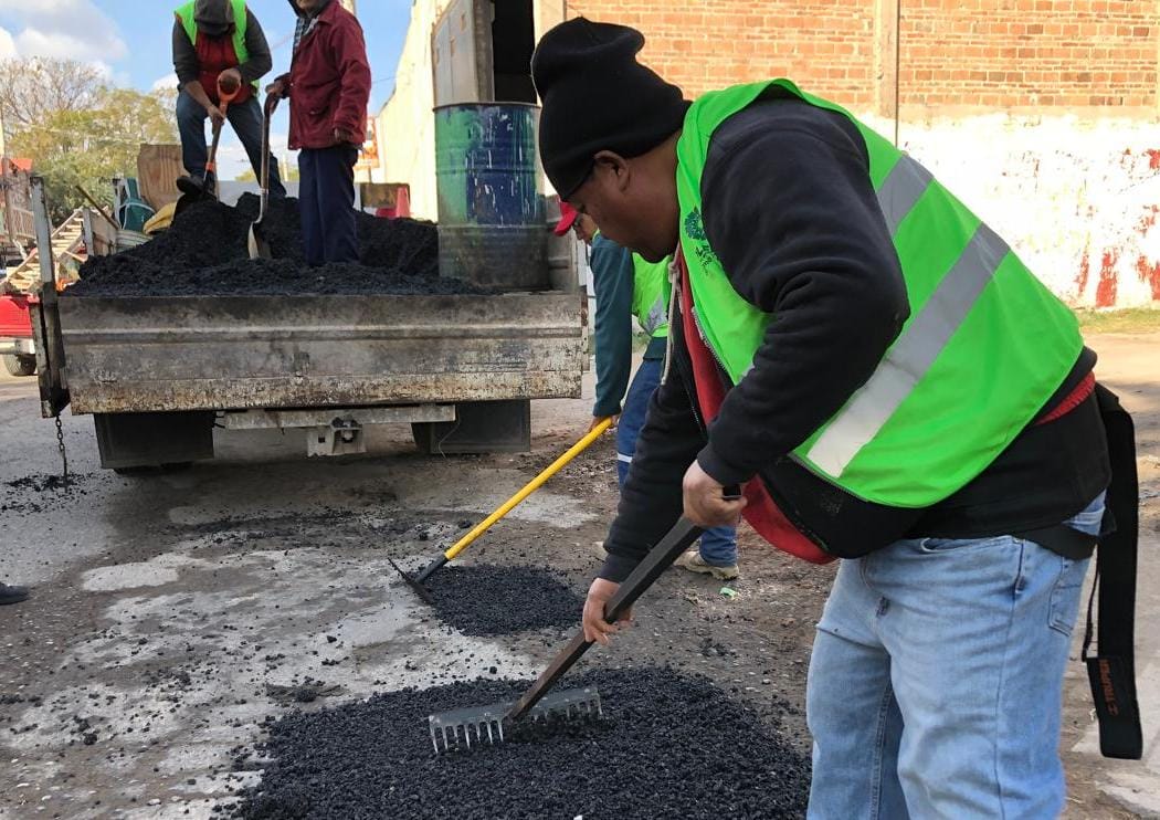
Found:
[[[0,119],[6,136],[60,111],[82,111],[103,89],[101,72],[77,60],[0,60]]]

